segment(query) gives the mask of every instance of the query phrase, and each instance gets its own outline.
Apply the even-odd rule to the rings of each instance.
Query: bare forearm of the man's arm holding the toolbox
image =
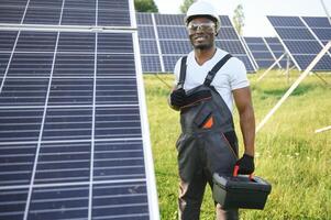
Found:
[[[240,128],[243,135],[245,153],[254,156],[255,117],[251,105],[240,113]]]

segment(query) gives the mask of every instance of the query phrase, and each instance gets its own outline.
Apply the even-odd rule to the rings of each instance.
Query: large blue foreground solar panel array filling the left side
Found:
[[[60,6],[64,24],[63,2],[1,6],[18,11],[27,4],[26,14],[35,9],[33,24]],[[76,31],[0,28],[0,219],[159,218],[133,1],[65,6],[84,11],[92,4],[104,13],[122,11],[130,23],[108,15],[102,23],[100,13],[86,13]],[[47,18],[45,26],[57,15]],[[91,18],[131,30],[89,31],[85,21]]]

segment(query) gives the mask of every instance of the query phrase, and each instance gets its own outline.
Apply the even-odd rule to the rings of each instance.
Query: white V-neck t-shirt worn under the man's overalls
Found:
[[[187,56],[186,78],[184,89],[189,90],[203,84],[205,78],[212,69],[212,67],[221,61],[228,53],[217,48],[213,57],[205,62],[201,66],[196,62],[195,52],[190,52]],[[175,66],[175,85],[179,80],[181,58],[179,58]],[[217,73],[211,86],[213,86],[219,95],[223,98],[230,111],[233,111],[233,96],[232,90],[250,86],[246,68],[244,64],[236,57],[231,57],[222,68]]]

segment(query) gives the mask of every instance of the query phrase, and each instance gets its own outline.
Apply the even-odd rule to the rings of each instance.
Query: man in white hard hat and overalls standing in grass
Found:
[[[212,175],[254,172],[255,119],[243,63],[216,47],[220,29],[217,10],[198,1],[185,23],[194,51],[175,66],[176,87],[169,106],[180,110],[181,134],[176,143],[179,167],[179,219],[198,220],[207,183]],[[233,100],[240,116],[244,155],[238,160],[232,120]],[[238,209],[216,205],[217,219],[239,219]]]

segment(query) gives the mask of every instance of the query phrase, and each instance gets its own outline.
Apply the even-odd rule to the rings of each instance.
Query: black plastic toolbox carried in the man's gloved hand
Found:
[[[223,209],[263,209],[272,186],[254,176],[219,176],[213,174],[213,199]]]

